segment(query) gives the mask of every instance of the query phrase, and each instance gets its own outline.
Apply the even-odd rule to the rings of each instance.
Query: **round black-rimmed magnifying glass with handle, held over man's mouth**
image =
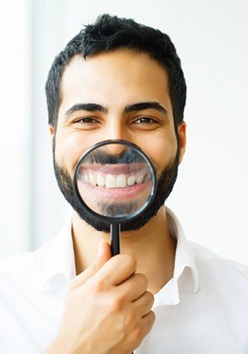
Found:
[[[156,171],[148,156],[126,140],[104,140],[87,150],[75,169],[73,186],[81,206],[110,225],[112,256],[120,253],[121,225],[151,204]]]

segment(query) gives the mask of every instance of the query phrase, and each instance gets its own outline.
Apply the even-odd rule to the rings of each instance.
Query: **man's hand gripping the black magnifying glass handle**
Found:
[[[101,243],[95,262],[71,282],[58,337],[45,353],[132,353],[155,320],[147,279],[135,271],[133,257],[111,258]]]

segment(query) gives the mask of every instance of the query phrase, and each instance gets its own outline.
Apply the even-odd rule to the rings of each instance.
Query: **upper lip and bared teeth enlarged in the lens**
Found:
[[[103,168],[104,167],[104,168]],[[122,171],[121,171],[122,170]],[[126,170],[126,171],[125,171]],[[120,166],[109,168],[108,165],[99,168],[81,168],[79,177],[81,181],[94,186],[106,189],[128,188],[140,185],[151,180],[151,172],[145,168],[132,168],[132,171],[123,169]]]

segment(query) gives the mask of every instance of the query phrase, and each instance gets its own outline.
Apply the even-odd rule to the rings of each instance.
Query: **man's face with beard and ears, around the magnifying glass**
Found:
[[[61,191],[78,214],[97,230],[108,231],[85,213],[72,188],[81,155],[107,139],[124,139],[138,145],[157,170],[158,193],[143,217],[123,230],[143,226],[171,192],[185,149],[185,125],[174,128],[167,75],[144,53],[120,49],[91,56],[75,56],[61,81],[61,103],[54,138],[54,166]],[[118,151],[111,147],[111,154]],[[94,195],[92,195],[94,198]]]

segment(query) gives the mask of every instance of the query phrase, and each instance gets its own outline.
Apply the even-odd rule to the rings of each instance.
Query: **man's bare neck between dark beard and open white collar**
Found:
[[[73,243],[77,274],[95,259],[101,239],[110,235],[98,232],[77,214],[73,216]],[[162,207],[144,227],[121,234],[121,253],[137,260],[137,273],[148,278],[149,290],[158,292],[173,276],[176,241],[169,233],[165,207]]]

